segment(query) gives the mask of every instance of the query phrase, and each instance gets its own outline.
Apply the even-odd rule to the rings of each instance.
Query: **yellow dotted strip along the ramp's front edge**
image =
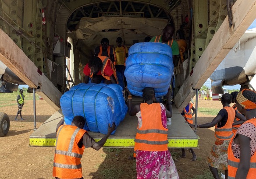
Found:
[[[98,142],[100,139],[95,139]],[[169,148],[198,148],[198,139],[168,139]],[[30,146],[55,146],[56,139],[29,138]],[[134,139],[107,139],[103,147],[134,147]]]

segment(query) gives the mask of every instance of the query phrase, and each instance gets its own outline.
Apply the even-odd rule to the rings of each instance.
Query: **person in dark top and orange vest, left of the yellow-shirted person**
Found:
[[[107,56],[114,63],[114,51],[107,38],[101,39],[100,46],[97,46],[94,52],[94,56]]]

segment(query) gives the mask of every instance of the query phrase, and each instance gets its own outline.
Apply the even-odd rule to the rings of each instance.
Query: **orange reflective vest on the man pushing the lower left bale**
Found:
[[[56,149],[53,161],[53,177],[77,179],[82,177],[81,158],[85,146],[78,147],[86,130],[76,126],[61,125],[57,131]]]

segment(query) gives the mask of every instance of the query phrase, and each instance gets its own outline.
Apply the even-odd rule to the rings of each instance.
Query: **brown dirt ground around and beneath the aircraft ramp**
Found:
[[[194,100],[195,101],[195,100]],[[220,101],[199,100],[199,107],[221,109]],[[29,136],[34,131],[33,102],[25,101],[22,110],[24,121],[14,121],[17,113],[15,101],[4,102],[1,112],[6,112],[11,120],[9,133],[0,137],[0,179],[53,179],[52,167],[55,147],[29,147]],[[37,127],[46,121],[55,110],[44,100],[36,101]],[[198,114],[198,123],[210,122],[214,116]],[[20,119],[20,117],[18,117]],[[190,161],[192,154],[186,149],[187,158],[180,158],[181,149],[171,149],[180,179],[191,179],[195,175],[209,171],[206,158],[215,137],[214,128],[198,129],[199,149],[195,149],[196,161]],[[85,149],[82,158],[84,179],[135,179],[135,160],[128,160],[133,149],[102,148],[95,151]]]

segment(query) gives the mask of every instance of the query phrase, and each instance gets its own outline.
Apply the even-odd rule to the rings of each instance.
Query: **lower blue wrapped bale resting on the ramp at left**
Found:
[[[118,84],[80,83],[61,96],[60,106],[66,124],[70,125],[74,116],[84,116],[85,130],[103,134],[107,134],[109,123],[118,126],[128,109]]]

